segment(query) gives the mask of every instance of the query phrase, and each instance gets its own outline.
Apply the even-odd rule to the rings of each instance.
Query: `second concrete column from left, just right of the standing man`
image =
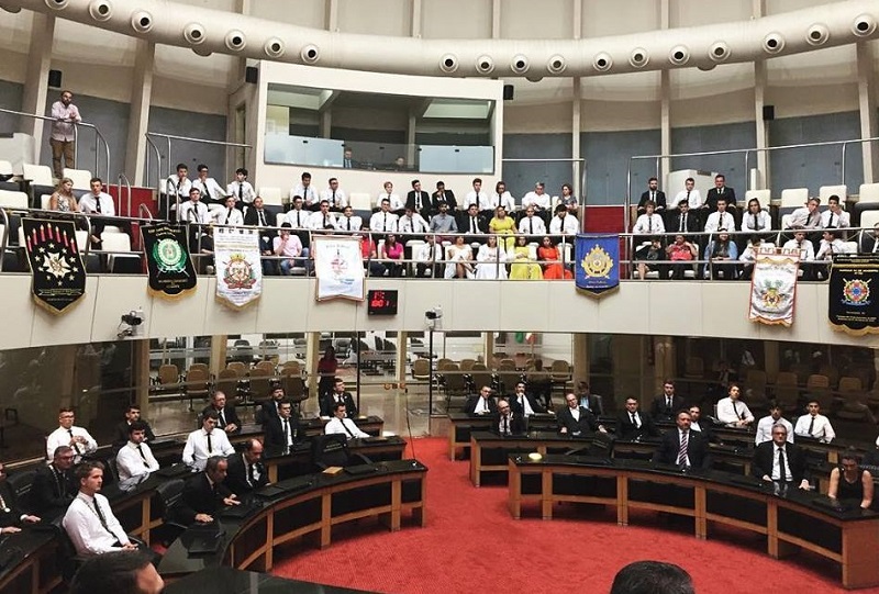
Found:
[[[146,186],[146,137],[149,130],[149,103],[153,98],[153,66],[156,44],[137,41],[134,76],[131,83],[131,111],[129,112],[129,139],[125,145],[125,175],[133,184]],[[111,180],[105,180],[108,183]],[[137,213],[124,213],[136,216]]]

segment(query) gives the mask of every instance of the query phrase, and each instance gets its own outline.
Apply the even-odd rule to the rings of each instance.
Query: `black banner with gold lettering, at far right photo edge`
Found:
[[[863,336],[879,333],[879,254],[838,254],[827,284],[827,318],[835,330]]]

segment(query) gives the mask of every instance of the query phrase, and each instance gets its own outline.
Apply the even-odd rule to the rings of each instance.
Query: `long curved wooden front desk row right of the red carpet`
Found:
[[[709,471],[683,474],[648,462],[545,456],[532,461],[510,456],[508,505],[513,518],[536,504],[552,519],[557,503],[614,506],[616,523],[627,526],[631,509],[691,517],[696,537],[708,538],[712,524],[767,537],[767,552],[780,559],[802,547],[842,567],[845,587],[879,585],[879,514],[858,507],[834,508],[823,495],[795,487],[764,485],[755,479]]]

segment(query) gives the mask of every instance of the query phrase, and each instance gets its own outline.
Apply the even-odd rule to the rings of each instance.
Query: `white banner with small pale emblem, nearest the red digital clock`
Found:
[[[359,237],[313,237],[318,301],[327,299],[364,300],[364,257]]]

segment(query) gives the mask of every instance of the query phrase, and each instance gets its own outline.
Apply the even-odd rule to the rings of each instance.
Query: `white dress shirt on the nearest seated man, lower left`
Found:
[[[107,528],[101,524],[94,506],[100,506]],[[91,556],[120,550],[119,545],[129,545],[129,535],[113,515],[110,502],[100,493],[90,497],[85,493],[77,494],[70,502],[62,520],[67,536],[76,548],[77,554]]]

